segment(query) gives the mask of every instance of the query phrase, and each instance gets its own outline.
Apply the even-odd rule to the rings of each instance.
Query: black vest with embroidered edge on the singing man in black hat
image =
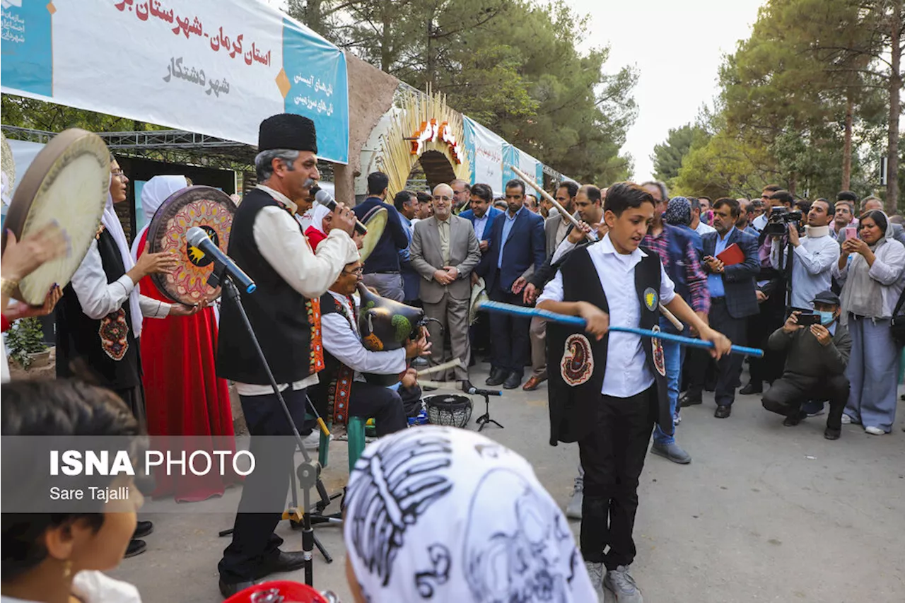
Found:
[[[277,383],[293,383],[324,367],[320,301],[306,299],[285,282],[254,242],[254,220],[258,212],[273,206],[286,209],[260,189],[250,191],[243,198],[233,219],[227,254],[258,285],[253,293],[242,292],[242,303],[273,377]],[[299,235],[304,237],[301,225]],[[217,376],[240,383],[270,385],[242,318],[229,301],[221,305]]]

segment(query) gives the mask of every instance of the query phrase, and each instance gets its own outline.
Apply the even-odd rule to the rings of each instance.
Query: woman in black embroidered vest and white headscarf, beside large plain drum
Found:
[[[138,425],[145,426],[138,347],[143,318],[187,316],[197,309],[160,302],[138,291],[138,282],[148,274],[175,269],[176,257],[144,254],[138,262],[132,259],[113,207],[126,200],[128,184],[119,163],[110,158],[110,192],[100,228],[57,305],[56,374],[112,389],[129,406]],[[138,522],[136,538],[152,529],[151,522]],[[145,548],[144,541],[133,540],[126,556]]]

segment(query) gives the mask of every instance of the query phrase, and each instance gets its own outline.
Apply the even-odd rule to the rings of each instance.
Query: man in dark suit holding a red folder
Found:
[[[701,237],[704,244],[704,271],[710,289],[710,327],[738,343],[745,340],[748,316],[757,314],[754,277],[760,268],[757,239],[735,227],[741,212],[735,199],[717,199],[713,204],[713,226],[717,232]],[[716,256],[736,244],[744,260],[726,265]],[[735,390],[741,376],[742,357],[728,354],[717,364],[717,410],[713,416],[726,418],[732,412]],[[691,392],[690,392],[691,393]]]

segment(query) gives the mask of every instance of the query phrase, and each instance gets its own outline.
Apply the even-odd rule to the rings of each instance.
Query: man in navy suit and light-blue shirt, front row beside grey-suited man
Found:
[[[487,253],[481,258],[478,273],[494,302],[525,305],[521,292],[528,278],[546,259],[544,219],[531,213],[525,204],[525,183],[510,180],[506,184],[508,210],[493,220]],[[503,384],[515,389],[521,385],[525,365],[529,364],[530,319],[500,314],[491,321],[491,357],[493,369],[487,385]]]

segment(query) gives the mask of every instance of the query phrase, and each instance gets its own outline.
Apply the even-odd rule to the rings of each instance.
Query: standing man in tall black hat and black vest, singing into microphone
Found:
[[[242,293],[248,319],[261,344],[296,426],[305,417],[306,388],[324,368],[320,343],[320,296],[347,263],[358,258],[350,236],[355,216],[343,204],[315,254],[295,215],[311,206],[319,179],[314,122],[282,113],[263,120],[255,158],[258,185],[236,210],[228,254],[257,284]],[[231,303],[220,316],[217,375],[235,382],[257,471],[245,478],[233,542],[220,560],[224,597],[278,571],[299,570],[302,552],[283,552],[273,533],[289,489],[295,442],[289,421],[258,359],[243,321]]]

